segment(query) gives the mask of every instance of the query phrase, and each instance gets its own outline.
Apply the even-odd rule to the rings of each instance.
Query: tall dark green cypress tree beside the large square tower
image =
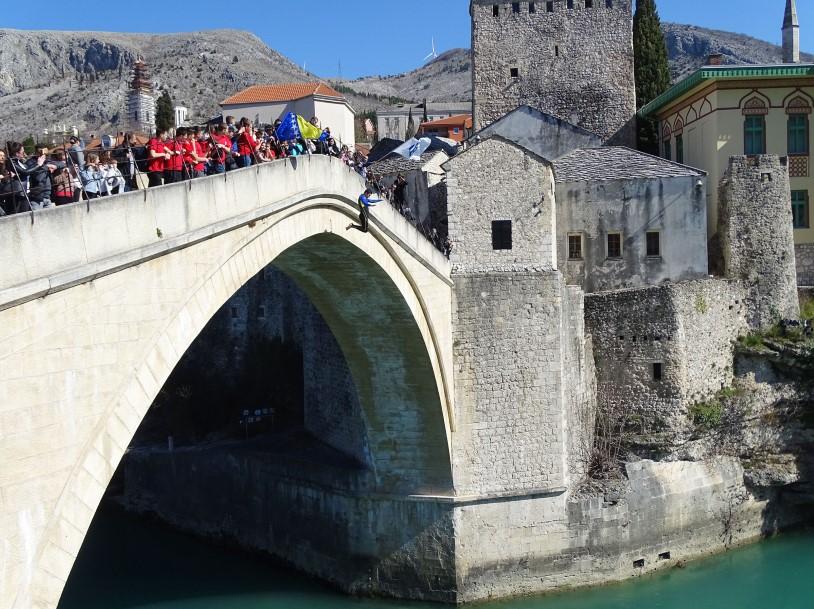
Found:
[[[641,109],[670,88],[667,44],[661,33],[656,0],[636,0],[633,16],[633,56],[636,62],[636,108]],[[659,153],[658,122],[640,118],[637,140],[639,150]]]

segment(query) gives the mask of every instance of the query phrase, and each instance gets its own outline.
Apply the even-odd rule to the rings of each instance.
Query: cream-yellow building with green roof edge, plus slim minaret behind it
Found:
[[[779,8],[779,2],[776,2]],[[782,65],[707,65],[644,106],[659,120],[661,155],[708,172],[718,184],[731,156],[788,156],[798,283],[814,285],[811,167],[814,64],[800,63],[794,0],[783,20]],[[710,63],[718,61],[710,59]],[[718,191],[708,193],[708,232],[718,231]]]

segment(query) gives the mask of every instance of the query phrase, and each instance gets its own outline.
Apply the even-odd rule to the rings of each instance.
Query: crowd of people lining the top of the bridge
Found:
[[[21,143],[8,142],[0,150],[0,216],[223,174],[277,159],[322,154],[336,157],[356,171],[438,249],[449,253],[448,241],[417,222],[406,205],[403,176],[384,188],[377,176],[368,172],[363,154],[340,145],[330,128],[320,128],[316,118],[310,123],[319,129],[318,138],[283,140],[278,137],[279,120],[273,125],[254,126],[247,118],[236,122],[227,116],[223,123],[211,127],[159,132],[146,144],[126,133],[115,146],[86,148],[82,139],[74,136],[61,148],[37,148],[28,154]]]

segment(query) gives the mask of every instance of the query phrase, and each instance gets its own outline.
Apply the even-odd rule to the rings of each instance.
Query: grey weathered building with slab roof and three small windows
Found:
[[[575,150],[554,173],[569,284],[602,292],[709,274],[703,171],[610,146]]]

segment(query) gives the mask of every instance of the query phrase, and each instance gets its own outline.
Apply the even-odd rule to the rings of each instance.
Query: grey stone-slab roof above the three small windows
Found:
[[[624,146],[580,148],[554,161],[557,182],[704,176],[706,172]]]

